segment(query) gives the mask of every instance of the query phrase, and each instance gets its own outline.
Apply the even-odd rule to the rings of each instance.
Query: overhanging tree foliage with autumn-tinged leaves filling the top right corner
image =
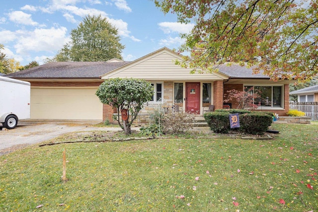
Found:
[[[318,0],[154,0],[180,23],[194,22],[181,66],[217,71],[227,62],[254,66],[273,80],[318,75]]]

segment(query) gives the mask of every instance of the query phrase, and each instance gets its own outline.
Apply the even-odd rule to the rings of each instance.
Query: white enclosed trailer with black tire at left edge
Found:
[[[0,76],[0,123],[13,129],[21,119],[30,119],[30,82]]]

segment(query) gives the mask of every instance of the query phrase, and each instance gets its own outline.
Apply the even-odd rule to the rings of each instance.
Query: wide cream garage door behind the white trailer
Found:
[[[96,88],[32,88],[31,119],[102,120]]]

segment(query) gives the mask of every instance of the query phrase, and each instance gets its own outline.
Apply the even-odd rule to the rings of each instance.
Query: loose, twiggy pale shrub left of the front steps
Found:
[[[162,132],[164,134],[180,134],[193,128],[195,117],[185,112],[169,112],[161,120]]]

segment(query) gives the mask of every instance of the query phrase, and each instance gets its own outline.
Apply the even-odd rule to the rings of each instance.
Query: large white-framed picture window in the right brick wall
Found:
[[[245,86],[245,91],[249,89],[259,95],[254,99],[254,104],[259,107],[283,107],[282,86]]]

